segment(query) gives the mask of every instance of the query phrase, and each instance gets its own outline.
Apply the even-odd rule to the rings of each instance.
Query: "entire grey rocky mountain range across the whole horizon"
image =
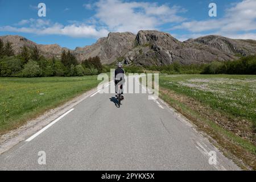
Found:
[[[22,36],[0,36],[3,42],[13,43],[15,53],[20,48],[38,46],[46,57],[60,57],[63,50],[57,44],[36,44]],[[233,60],[238,55],[254,55],[256,40],[229,39],[217,35],[189,39],[185,42],[159,31],[139,31],[137,35],[130,32],[109,33],[108,37],[100,38],[92,46],[77,47],[71,51],[79,61],[99,56],[103,64],[113,63],[123,57],[126,64],[131,65],[167,65],[178,61],[181,64],[209,63],[213,60]]]

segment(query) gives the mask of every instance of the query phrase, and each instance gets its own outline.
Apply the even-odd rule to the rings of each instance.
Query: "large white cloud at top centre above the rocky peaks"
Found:
[[[147,2],[125,2],[121,0],[100,0],[96,6],[95,18],[110,31],[155,30],[164,23],[181,22],[183,17],[177,15],[184,12],[178,6],[158,5]]]

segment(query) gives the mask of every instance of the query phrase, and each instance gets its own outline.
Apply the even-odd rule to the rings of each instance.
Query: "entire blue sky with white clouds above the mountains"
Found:
[[[38,16],[40,2],[46,17]],[[208,15],[212,2],[217,17]],[[0,35],[71,49],[117,31],[159,30],[181,41],[209,34],[256,39],[255,10],[255,0],[0,0]]]

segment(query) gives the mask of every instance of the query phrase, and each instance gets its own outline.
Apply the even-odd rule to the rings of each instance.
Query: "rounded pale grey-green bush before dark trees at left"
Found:
[[[28,60],[28,63],[24,65],[21,75],[23,77],[39,77],[42,75],[42,70],[36,61]]]

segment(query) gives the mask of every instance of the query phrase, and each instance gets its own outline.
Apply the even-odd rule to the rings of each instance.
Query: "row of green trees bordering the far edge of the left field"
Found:
[[[84,76],[106,71],[98,56],[90,57],[79,64],[75,55],[64,50],[60,59],[46,59],[36,46],[23,46],[20,53],[15,55],[11,43],[4,44],[0,39],[1,77]]]

